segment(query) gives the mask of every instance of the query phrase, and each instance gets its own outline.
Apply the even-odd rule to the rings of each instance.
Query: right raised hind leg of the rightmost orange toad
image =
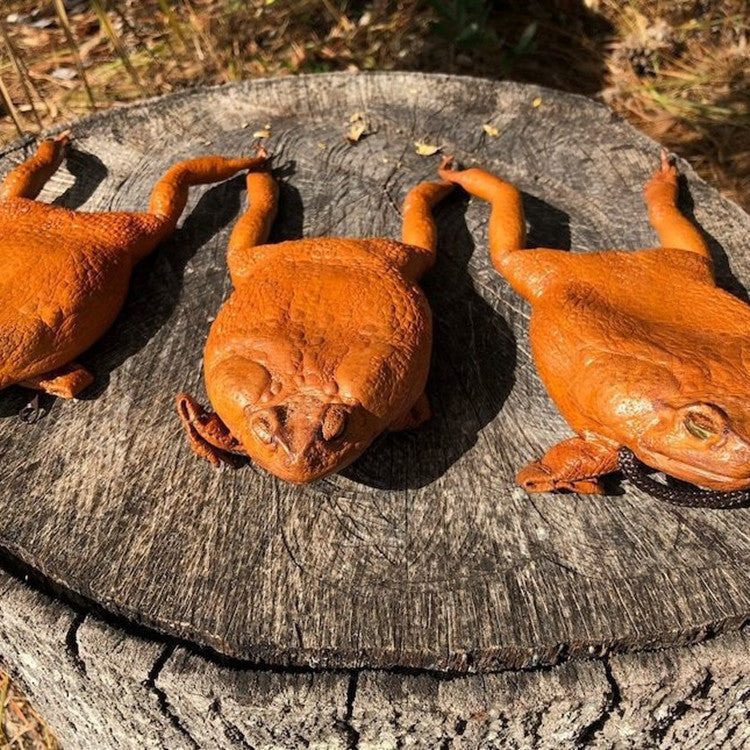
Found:
[[[666,149],[661,165],[644,188],[648,218],[659,235],[662,247],[688,250],[711,260],[706,243],[695,225],[677,208],[677,168],[670,163]]]

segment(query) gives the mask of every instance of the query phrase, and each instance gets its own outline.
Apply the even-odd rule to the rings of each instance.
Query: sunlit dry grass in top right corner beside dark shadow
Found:
[[[750,210],[746,0],[634,4],[619,30],[605,100]]]

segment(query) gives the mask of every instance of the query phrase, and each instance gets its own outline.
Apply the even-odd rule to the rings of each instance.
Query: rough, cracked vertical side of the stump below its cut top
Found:
[[[65,750],[743,748],[750,633],[461,677],[226,666],[0,571],[0,663]]]

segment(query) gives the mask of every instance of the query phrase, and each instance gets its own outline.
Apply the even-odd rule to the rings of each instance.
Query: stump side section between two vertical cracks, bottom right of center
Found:
[[[573,747],[607,709],[600,664],[452,680],[363,673],[352,726],[359,747]]]

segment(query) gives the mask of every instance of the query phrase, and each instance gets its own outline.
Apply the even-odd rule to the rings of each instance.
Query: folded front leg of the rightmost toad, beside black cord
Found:
[[[599,477],[615,471],[617,465],[616,446],[574,437],[550,448],[541,461],[521,469],[516,482],[527,492],[569,490],[600,495]]]

